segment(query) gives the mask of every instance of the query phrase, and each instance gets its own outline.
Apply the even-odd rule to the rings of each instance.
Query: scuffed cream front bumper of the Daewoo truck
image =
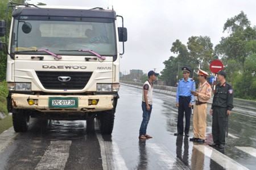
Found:
[[[78,105],[76,107],[52,107],[49,106],[50,97],[77,97]],[[51,95],[30,95],[30,94],[11,94],[11,104],[14,109],[38,110],[41,112],[94,112],[111,110],[114,108],[114,95],[93,95],[93,96],[51,96]],[[28,104],[28,100],[33,99],[33,105]],[[90,100],[96,99],[97,105],[90,104]]]

